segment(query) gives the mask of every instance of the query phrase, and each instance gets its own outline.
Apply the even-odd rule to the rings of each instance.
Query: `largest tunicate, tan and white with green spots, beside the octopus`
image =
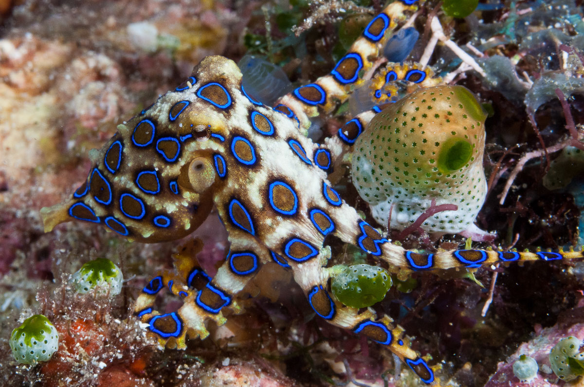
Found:
[[[430,233],[475,227],[486,196],[487,115],[463,86],[420,89],[377,114],[353,146],[353,184],[383,226],[403,230],[433,206]],[[391,222],[388,222],[391,213]]]

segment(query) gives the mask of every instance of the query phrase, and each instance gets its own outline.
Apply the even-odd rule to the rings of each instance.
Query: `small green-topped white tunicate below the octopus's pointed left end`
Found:
[[[85,294],[93,289],[110,295],[120,294],[124,277],[120,268],[106,258],[98,258],[81,266],[72,276],[72,283],[78,293]]]

